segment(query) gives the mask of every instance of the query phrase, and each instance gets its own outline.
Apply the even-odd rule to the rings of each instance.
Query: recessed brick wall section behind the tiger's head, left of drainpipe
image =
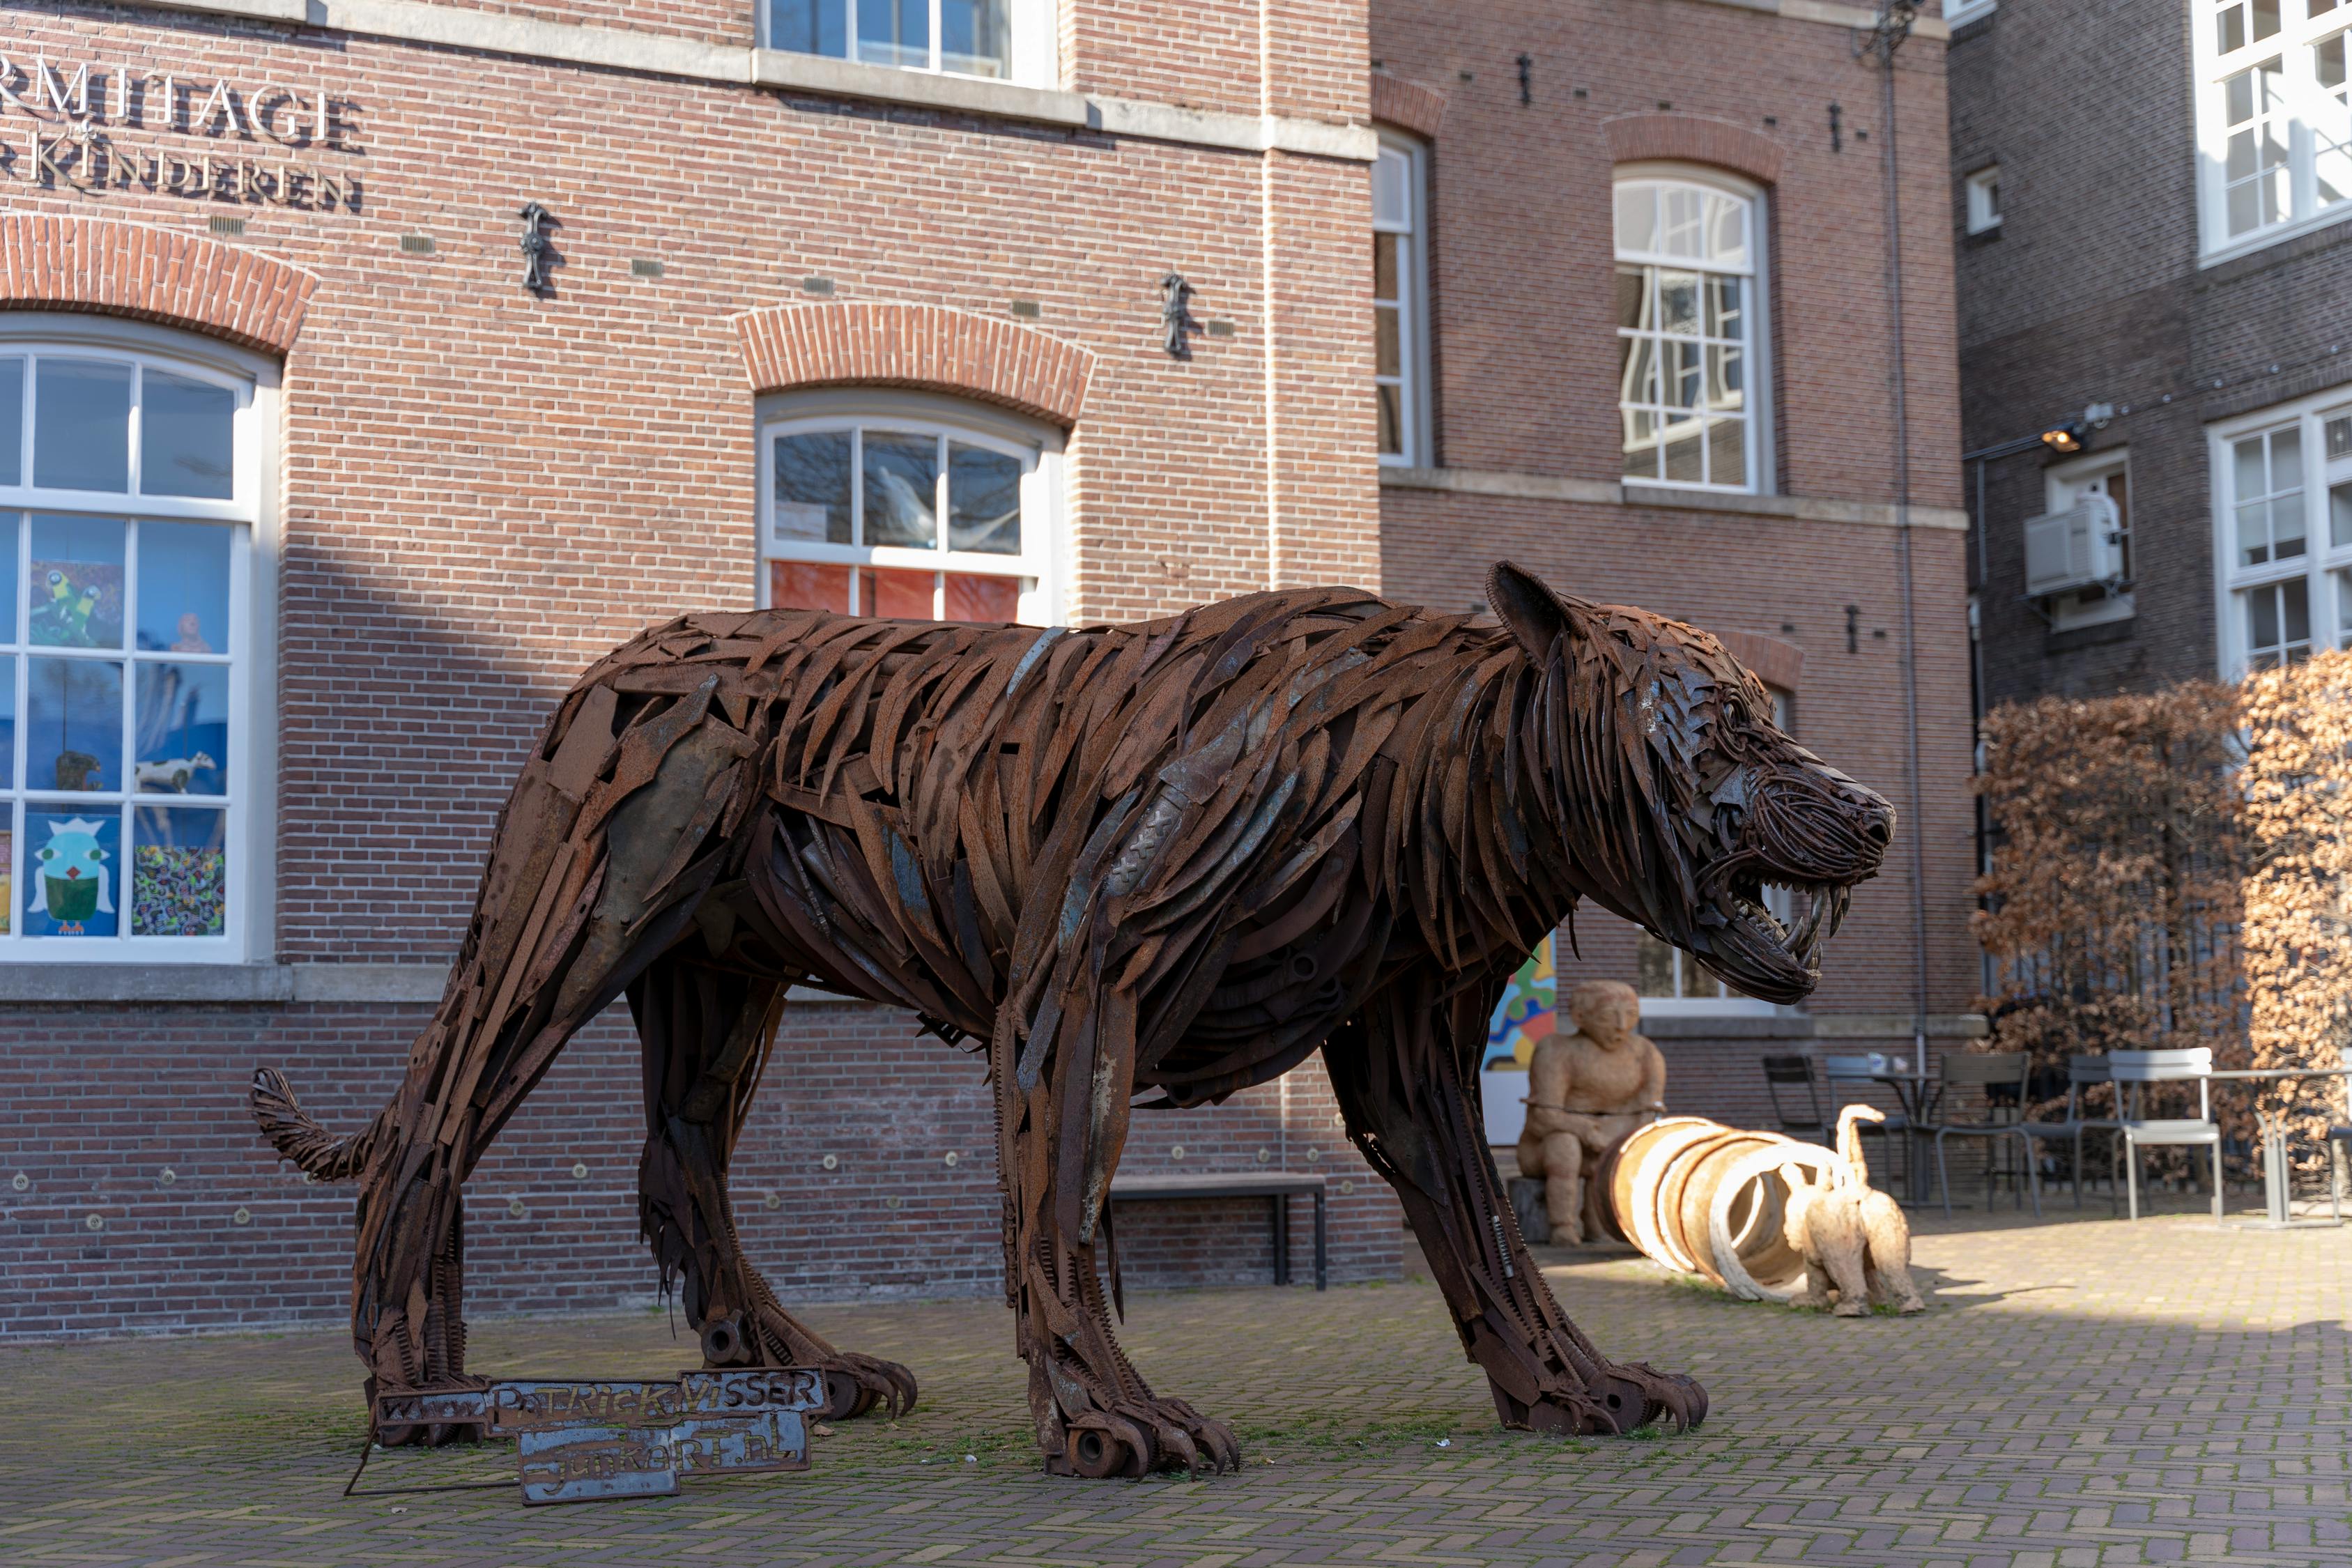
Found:
[[[1903,809],[1905,844],[1856,891],[1802,1011],[1712,994],[1609,917],[1578,917],[1581,957],[1562,943],[1559,985],[1623,978],[1646,992],[1644,1030],[1668,1056],[1677,1110],[1762,1126],[1766,1051],[1910,1053],[1922,1032],[1938,1051],[1980,1027],[1966,1011],[1966,517],[1938,167],[1945,45],[1924,19],[1896,49],[1900,120],[1889,127],[1884,73],[1858,54],[1870,24],[1860,7],[1691,0],[1390,0],[1371,12],[1374,110],[1395,103],[1390,146],[1418,158],[1428,223],[1416,242],[1430,280],[1425,414],[1381,468],[1390,590],[1470,604],[1482,562],[1508,555],[1573,592],[1696,621],[1783,693],[1799,741]],[[1886,155],[1900,167],[1907,505],[1889,395]],[[1663,233],[1684,190],[1708,223],[1743,219],[1738,254],[1630,233],[1651,200]],[[1684,268],[1740,287],[1743,331],[1672,331],[1668,289]],[[1616,320],[1611,270],[1623,280]],[[1736,315],[1712,294],[1708,310]],[[1621,343],[1653,331],[1661,362],[1682,350],[1677,336],[1698,336],[1708,355],[1736,350],[1748,369],[1731,383],[1705,357],[1696,400],[1637,397],[1642,350]],[[1677,470],[1672,442],[1653,449],[1644,404],[1679,414],[1691,402],[1705,404],[1698,418],[1745,425],[1745,473],[1717,473],[1715,454],[1698,473]]]

